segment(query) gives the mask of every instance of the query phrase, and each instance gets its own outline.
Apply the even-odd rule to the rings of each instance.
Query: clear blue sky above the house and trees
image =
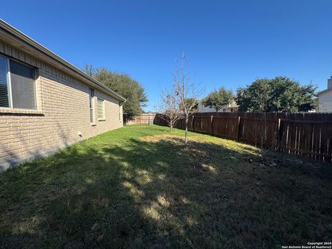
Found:
[[[332,75],[330,0],[10,0],[0,18],[77,67],[128,73],[146,89],[146,111],[183,50],[207,93],[278,75],[323,90]]]

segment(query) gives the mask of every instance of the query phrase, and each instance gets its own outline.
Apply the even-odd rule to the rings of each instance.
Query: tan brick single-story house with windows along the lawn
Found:
[[[124,101],[0,20],[0,172],[122,127]]]

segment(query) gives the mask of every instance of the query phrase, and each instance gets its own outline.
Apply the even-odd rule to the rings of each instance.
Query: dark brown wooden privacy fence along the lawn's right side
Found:
[[[162,114],[154,122],[167,125]],[[185,129],[185,120],[175,127]],[[188,129],[314,160],[332,160],[332,113],[195,113]]]

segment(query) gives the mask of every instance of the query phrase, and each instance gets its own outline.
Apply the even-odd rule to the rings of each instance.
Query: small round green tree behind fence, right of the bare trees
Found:
[[[234,95],[232,90],[225,89],[222,86],[219,90],[214,90],[208,94],[203,100],[203,104],[205,107],[210,107],[218,112],[223,106],[226,104],[231,104]]]

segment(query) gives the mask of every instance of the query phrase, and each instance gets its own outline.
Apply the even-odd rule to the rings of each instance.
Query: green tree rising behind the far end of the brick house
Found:
[[[137,80],[126,73],[114,73],[107,68],[93,68],[91,65],[86,65],[83,70],[127,99],[122,106],[125,120],[131,120],[142,113],[142,107],[146,106],[148,100],[144,88]]]

